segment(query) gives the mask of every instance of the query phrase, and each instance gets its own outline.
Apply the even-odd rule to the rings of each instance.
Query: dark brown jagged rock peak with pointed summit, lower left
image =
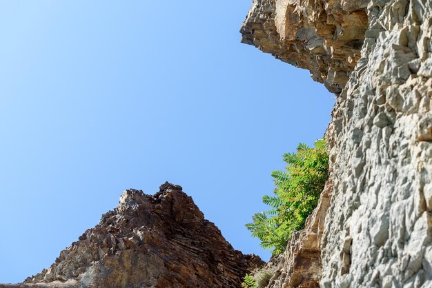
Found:
[[[154,196],[126,190],[48,270],[0,287],[241,287],[262,264],[234,250],[180,186],[166,183]]]

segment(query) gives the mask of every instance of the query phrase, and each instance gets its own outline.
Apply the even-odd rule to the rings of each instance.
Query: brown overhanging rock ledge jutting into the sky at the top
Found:
[[[242,42],[311,71],[334,93],[360,59],[369,1],[253,0]]]

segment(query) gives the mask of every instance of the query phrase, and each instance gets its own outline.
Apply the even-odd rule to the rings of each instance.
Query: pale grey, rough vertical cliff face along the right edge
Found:
[[[370,1],[333,110],[323,287],[432,287],[432,2]]]

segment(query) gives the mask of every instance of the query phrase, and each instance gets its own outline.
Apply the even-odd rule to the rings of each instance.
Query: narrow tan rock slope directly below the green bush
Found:
[[[295,232],[288,243],[284,254],[271,261],[269,267],[274,267],[275,275],[268,287],[320,287],[321,245],[320,239],[324,231],[324,218],[331,199],[331,181],[320,197],[317,209],[306,220],[304,230]]]

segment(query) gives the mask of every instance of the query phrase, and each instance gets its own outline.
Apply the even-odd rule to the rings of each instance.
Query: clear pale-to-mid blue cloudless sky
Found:
[[[0,1],[0,282],[48,268],[124,189],[165,181],[268,260],[244,224],[334,96],[239,42],[250,5]]]

